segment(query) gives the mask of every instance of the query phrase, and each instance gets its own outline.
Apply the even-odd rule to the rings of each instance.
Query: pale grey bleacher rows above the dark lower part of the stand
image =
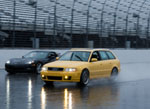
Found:
[[[43,25],[43,22],[51,20],[53,24],[54,20],[54,7],[56,0],[37,0],[37,25]],[[104,22],[109,25],[114,23],[114,12],[117,5],[117,0],[106,0],[104,10],[102,10],[105,0],[93,0],[89,11],[89,28],[97,28],[97,22],[101,18],[101,12],[103,11]],[[122,29],[125,28],[127,8],[129,7],[131,0],[121,0],[117,10],[117,26]],[[133,18],[133,13],[140,14],[140,24],[142,28],[145,28],[147,14],[149,13],[148,6],[149,2],[144,3],[143,8],[139,10],[143,0],[135,0],[129,11],[129,26],[134,29],[134,23],[136,18]],[[74,27],[80,28],[87,26],[87,9],[88,0],[77,0],[74,6]],[[73,0],[57,0],[57,24],[65,22],[65,26],[70,26],[71,21],[71,9]],[[1,11],[1,22],[12,22],[13,21],[13,0],[0,0],[0,11]],[[16,0],[16,23],[28,23],[34,24],[35,7],[31,6],[27,0]],[[144,22],[144,23],[143,23]],[[46,25],[48,25],[46,23]],[[51,25],[53,26],[53,25]]]

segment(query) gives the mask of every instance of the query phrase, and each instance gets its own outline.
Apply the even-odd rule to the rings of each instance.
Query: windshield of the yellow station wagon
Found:
[[[60,57],[61,61],[84,61],[87,62],[90,52],[86,51],[69,51]]]

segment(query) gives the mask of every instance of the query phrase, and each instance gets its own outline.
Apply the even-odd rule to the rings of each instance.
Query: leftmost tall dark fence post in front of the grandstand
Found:
[[[15,42],[16,42],[15,26],[16,26],[16,0],[14,0],[14,6],[13,6],[13,38],[12,38],[12,47],[15,47]]]

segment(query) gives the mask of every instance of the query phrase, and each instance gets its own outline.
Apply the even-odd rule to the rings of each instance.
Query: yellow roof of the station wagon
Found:
[[[92,48],[72,48],[70,51],[110,51],[109,49],[92,49]]]

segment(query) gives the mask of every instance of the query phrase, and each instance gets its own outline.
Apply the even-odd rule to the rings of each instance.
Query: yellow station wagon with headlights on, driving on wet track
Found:
[[[87,85],[90,79],[115,77],[119,72],[120,61],[108,49],[71,49],[57,61],[45,64],[41,78],[46,84],[62,81]]]

